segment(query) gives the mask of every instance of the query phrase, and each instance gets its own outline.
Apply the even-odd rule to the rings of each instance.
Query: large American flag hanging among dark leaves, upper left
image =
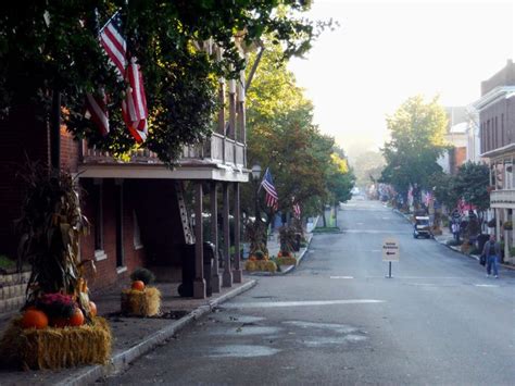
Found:
[[[99,34],[100,45],[110,61],[114,64],[118,76],[127,85],[126,98],[122,102],[122,117],[138,144],[148,136],[148,110],[145,96],[143,77],[136,58],[130,61],[127,55],[127,41],[122,34],[122,18],[116,12],[103,26]],[[102,133],[109,132],[109,117],[105,103],[98,97],[88,95],[88,111]]]

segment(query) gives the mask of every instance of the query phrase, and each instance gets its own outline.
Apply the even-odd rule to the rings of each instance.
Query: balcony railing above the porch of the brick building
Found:
[[[124,163],[113,158],[106,151],[88,148],[86,141],[83,142],[81,151],[83,163]],[[198,163],[199,161],[206,164],[226,164],[236,167],[244,167],[246,145],[221,134],[213,133],[211,138],[202,144],[185,146],[181,158],[178,160],[179,164]],[[134,151],[130,154],[130,160],[125,163],[162,164],[158,155],[147,149]]]

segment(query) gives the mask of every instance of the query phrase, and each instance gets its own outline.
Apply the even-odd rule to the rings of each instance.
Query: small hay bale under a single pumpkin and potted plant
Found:
[[[156,315],[161,308],[161,292],[155,287],[122,291],[122,313],[136,316]]]

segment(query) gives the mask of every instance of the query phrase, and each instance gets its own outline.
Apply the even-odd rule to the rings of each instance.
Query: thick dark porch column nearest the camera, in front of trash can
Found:
[[[194,282],[193,298],[205,299],[204,238],[202,235],[202,182],[194,184]]]

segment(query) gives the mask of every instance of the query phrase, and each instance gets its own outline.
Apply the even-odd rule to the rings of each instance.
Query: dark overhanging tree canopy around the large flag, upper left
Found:
[[[34,1],[2,3],[0,12],[0,117],[24,103],[48,119],[52,91],[62,95],[64,123],[77,138],[121,154],[135,142],[124,128],[124,83],[101,50],[99,26],[120,11],[128,51],[145,77],[150,136],[143,144],[172,163],[181,146],[211,133],[217,77],[236,78],[246,65],[239,47],[263,36],[281,58],[302,54],[317,33],[300,18],[311,1]],[[324,24],[324,23],[322,23]],[[323,25],[318,25],[323,27]],[[212,39],[216,58],[202,49]],[[84,116],[87,92],[109,95],[111,132],[102,137]]]

